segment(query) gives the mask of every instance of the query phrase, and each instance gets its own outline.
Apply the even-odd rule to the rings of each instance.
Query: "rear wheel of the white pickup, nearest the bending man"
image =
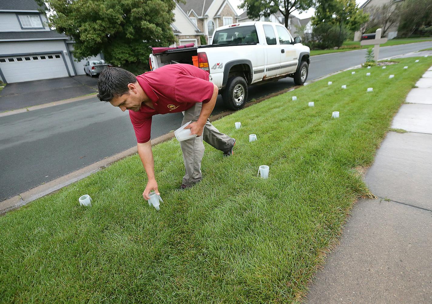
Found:
[[[223,103],[226,108],[239,110],[248,99],[248,84],[243,77],[236,76],[228,79],[226,88],[222,92]]]

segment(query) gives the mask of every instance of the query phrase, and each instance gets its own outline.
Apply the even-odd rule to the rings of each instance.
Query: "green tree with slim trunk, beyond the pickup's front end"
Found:
[[[329,23],[339,27],[339,44],[342,45],[343,30],[357,31],[369,18],[359,9],[355,0],[318,0],[312,24]]]

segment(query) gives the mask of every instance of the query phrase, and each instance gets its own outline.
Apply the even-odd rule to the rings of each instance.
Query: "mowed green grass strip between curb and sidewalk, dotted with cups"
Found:
[[[0,217],[0,301],[301,299],[353,203],[368,195],[355,168],[372,164],[392,117],[432,65],[415,59],[343,72],[214,122],[237,139],[235,155],[222,158],[206,144],[204,178],[189,190],[175,190],[184,174],[179,143],[155,146],[159,212],[142,198],[146,175],[133,155]],[[257,177],[259,165],[270,166],[267,180]],[[79,206],[86,193],[91,208]]]

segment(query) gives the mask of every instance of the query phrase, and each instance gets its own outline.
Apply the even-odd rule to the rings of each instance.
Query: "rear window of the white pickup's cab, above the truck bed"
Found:
[[[213,44],[246,44],[258,43],[257,29],[254,25],[233,26],[217,31]]]

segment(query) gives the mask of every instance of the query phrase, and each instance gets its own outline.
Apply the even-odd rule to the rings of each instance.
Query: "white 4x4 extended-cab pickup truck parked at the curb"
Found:
[[[160,49],[150,54],[150,69],[172,63],[194,64],[210,73],[227,108],[238,110],[248,98],[248,85],[308,77],[310,49],[292,38],[281,24],[242,22],[216,28],[213,42],[200,47]]]

